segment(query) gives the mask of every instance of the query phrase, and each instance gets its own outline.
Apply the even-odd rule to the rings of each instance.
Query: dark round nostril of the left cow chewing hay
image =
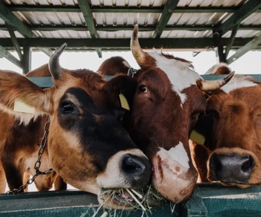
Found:
[[[125,173],[142,173],[145,170],[145,165],[135,156],[126,155],[122,160],[122,170]]]

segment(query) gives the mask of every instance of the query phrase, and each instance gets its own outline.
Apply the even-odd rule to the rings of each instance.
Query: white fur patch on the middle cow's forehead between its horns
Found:
[[[168,79],[170,79],[172,84],[172,90],[181,98],[181,104],[185,103],[187,96],[181,91],[192,85],[196,85],[196,80],[202,79],[201,76],[190,69],[189,62],[165,58],[157,51],[148,54],[152,58],[155,58],[157,67],[168,75]]]

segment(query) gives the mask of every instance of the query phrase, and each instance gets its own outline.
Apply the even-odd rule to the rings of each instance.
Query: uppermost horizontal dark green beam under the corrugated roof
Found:
[[[60,5],[8,5],[14,12],[78,12],[78,6]],[[234,13],[240,7],[177,7],[173,13]],[[163,7],[109,7],[91,6],[93,13],[161,13]],[[258,10],[258,12],[261,12]]]

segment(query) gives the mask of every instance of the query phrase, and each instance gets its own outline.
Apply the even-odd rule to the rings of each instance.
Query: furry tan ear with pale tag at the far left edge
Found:
[[[42,90],[19,73],[0,71],[0,87],[0,109],[5,112],[25,116],[28,110],[37,116],[50,110],[51,90]]]

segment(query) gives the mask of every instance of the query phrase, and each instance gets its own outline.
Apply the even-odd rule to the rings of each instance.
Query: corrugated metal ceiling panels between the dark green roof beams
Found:
[[[77,6],[77,0],[3,0],[6,5],[60,5]],[[111,7],[163,7],[166,0],[91,0],[91,6],[111,6]],[[245,0],[180,0],[177,7],[198,7],[198,13],[173,13],[168,21],[169,26],[184,25],[218,25],[223,23],[232,13],[201,13],[201,7],[236,7],[244,4]],[[34,25],[47,26],[80,26],[86,27],[84,16],[81,12],[14,12],[14,14],[28,27]],[[139,23],[139,26],[155,26],[161,17],[161,13],[119,13],[119,12],[93,12],[95,25],[104,26],[133,26]],[[4,25],[0,18],[0,25]],[[242,25],[261,25],[261,13],[253,13],[245,18]],[[55,30],[55,31],[33,31],[40,38],[91,38],[89,31],[75,30]],[[100,38],[131,38],[131,30],[120,31],[102,31],[99,30]],[[17,38],[23,38],[21,34],[15,31]],[[153,31],[140,31],[140,38],[150,38]],[[228,31],[223,37],[227,38],[231,34]],[[236,37],[251,38],[260,34],[256,30],[239,30]],[[9,38],[8,31],[0,30],[0,38]],[[165,30],[161,38],[210,38],[212,30],[188,31],[188,30]]]

